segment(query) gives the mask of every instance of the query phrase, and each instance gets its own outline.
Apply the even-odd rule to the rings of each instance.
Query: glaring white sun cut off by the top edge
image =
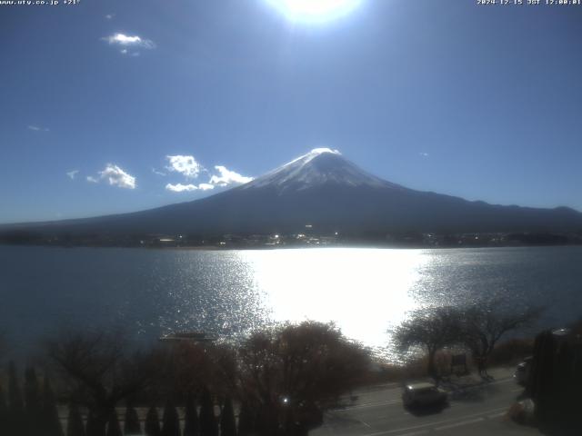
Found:
[[[352,12],[362,0],[266,0],[287,19],[300,22],[323,22]]]

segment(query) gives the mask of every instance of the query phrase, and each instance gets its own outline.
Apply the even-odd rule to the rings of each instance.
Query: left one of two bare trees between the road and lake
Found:
[[[458,342],[460,312],[452,306],[429,307],[409,314],[393,331],[398,349],[407,351],[412,347],[425,349],[428,356],[427,372],[436,377],[435,355],[449,345]]]

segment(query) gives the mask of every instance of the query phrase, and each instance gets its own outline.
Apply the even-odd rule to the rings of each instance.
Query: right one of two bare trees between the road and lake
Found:
[[[542,309],[517,309],[506,300],[477,302],[461,316],[460,339],[477,362],[480,375],[487,375],[487,360],[497,342],[507,332],[527,327],[537,321]]]

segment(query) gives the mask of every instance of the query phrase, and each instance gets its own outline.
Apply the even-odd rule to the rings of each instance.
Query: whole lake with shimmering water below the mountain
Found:
[[[380,352],[430,304],[503,297],[582,316],[582,247],[147,250],[0,246],[0,331],[15,352],[59,329],[236,338],[272,322],[333,321]]]

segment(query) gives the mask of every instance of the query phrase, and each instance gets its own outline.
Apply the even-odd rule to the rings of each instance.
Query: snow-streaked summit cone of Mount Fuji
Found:
[[[278,193],[288,193],[322,185],[404,189],[395,183],[366,173],[355,163],[348,161],[339,151],[330,148],[315,148],[253,182],[246,183],[241,188],[272,187]]]

